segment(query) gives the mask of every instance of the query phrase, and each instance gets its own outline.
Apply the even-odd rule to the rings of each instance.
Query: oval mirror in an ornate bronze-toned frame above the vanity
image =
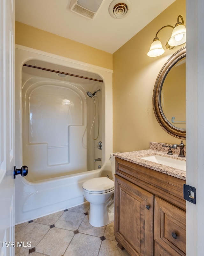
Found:
[[[162,128],[186,139],[186,47],[175,52],[157,76],[153,109]]]

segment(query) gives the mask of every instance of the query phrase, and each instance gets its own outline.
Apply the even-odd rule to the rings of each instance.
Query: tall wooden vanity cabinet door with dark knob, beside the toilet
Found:
[[[154,195],[115,175],[115,236],[131,256],[152,256]]]

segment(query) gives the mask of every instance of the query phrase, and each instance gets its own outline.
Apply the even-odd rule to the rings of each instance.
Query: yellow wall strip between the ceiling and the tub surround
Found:
[[[18,21],[15,22],[15,43],[99,67],[113,69],[113,54]]]

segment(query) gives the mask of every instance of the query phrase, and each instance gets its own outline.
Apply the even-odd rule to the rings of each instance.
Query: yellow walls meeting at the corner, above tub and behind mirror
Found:
[[[147,56],[157,31],[165,25],[174,26],[179,14],[186,23],[186,0],[176,0],[113,55],[20,22],[15,24],[15,42],[113,68],[113,152],[148,149],[149,141],[179,144],[179,139],[166,133],[158,124],[152,107],[152,93],[160,69],[184,45],[165,50],[162,56],[156,58]],[[172,28],[159,32],[163,47],[171,32]]]

